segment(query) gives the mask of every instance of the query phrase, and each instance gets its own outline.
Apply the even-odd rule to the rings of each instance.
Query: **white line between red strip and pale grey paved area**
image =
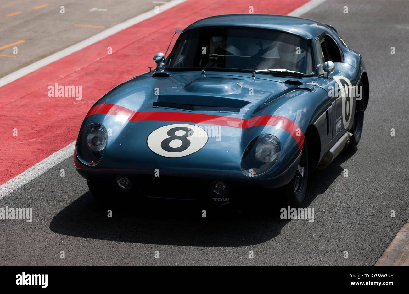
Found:
[[[166,2],[165,4],[160,6],[160,11],[163,12],[165,10],[168,10],[180,3],[185,2],[186,0],[171,0],[169,2]],[[92,37],[85,39],[79,43],[76,43],[70,47],[67,47],[57,53],[54,53],[52,55],[49,55],[41,60],[38,60],[37,62],[34,62],[28,66],[23,67],[22,69],[19,69],[18,71],[15,71],[9,75],[6,75],[0,79],[0,87],[4,86],[10,82],[13,82],[20,77],[23,77],[29,73],[32,73],[33,71],[36,71],[37,69],[42,68],[43,66],[50,64],[54,61],[57,61],[67,55],[70,55],[76,51],[79,51],[91,44],[94,44],[102,39],[105,39],[109,37],[110,35],[113,35],[115,33],[118,33],[119,31],[122,31],[128,27],[133,26],[134,24],[137,24],[138,22],[142,22],[143,20],[146,20],[148,18],[151,18],[152,16],[155,16],[155,9],[146,11],[145,13],[142,13],[141,15],[138,15],[134,18],[131,18],[130,20],[126,20],[124,22],[121,22],[120,24],[117,24],[113,27],[110,27],[109,29],[106,29],[105,31],[102,31],[100,33],[97,33],[96,35],[93,35]]]

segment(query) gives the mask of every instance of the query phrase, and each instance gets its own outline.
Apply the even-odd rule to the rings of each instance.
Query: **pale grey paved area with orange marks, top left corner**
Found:
[[[25,41],[15,45],[16,58],[0,56],[0,77],[161,5],[154,2],[157,1],[0,0],[0,47]],[[43,4],[48,6],[33,9]],[[61,6],[65,7],[63,14]],[[90,11],[94,8],[100,10]],[[21,13],[6,16],[14,12]],[[74,27],[74,24],[105,28]],[[13,47],[0,49],[0,54],[13,56]]]

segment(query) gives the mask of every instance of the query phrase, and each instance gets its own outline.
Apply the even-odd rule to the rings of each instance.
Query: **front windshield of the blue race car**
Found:
[[[285,69],[313,73],[308,42],[296,35],[242,27],[200,28],[183,33],[167,69]]]

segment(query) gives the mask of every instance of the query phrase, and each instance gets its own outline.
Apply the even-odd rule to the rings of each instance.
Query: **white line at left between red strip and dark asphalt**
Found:
[[[0,186],[0,199],[74,154],[75,141]]]

